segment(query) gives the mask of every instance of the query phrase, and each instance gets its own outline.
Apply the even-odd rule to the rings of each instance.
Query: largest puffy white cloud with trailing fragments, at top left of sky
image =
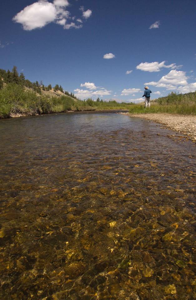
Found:
[[[24,30],[42,28],[51,22],[63,26],[64,29],[81,28],[81,24],[76,25],[74,22],[67,24],[68,19],[75,19],[75,17],[71,18],[70,12],[66,10],[66,7],[68,6],[68,0],[53,0],[52,3],[47,0],[39,0],[26,6],[23,10],[18,12],[12,20],[22,24]],[[90,14],[89,11],[90,10],[86,11],[86,19]],[[83,14],[84,13],[85,12],[83,12]],[[81,19],[77,19],[77,22],[82,23]]]

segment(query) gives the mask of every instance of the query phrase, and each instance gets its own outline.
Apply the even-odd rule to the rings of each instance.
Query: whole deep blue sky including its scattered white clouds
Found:
[[[31,81],[127,102],[146,84],[152,98],[196,90],[194,0],[3,0],[0,11],[0,68]]]

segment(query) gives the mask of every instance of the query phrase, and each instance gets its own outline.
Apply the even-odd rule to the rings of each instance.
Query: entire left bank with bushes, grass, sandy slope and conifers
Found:
[[[97,98],[84,101],[76,98],[73,93],[64,91],[61,85],[45,86],[42,81],[35,83],[20,76],[17,67],[12,72],[0,69],[0,118],[10,118],[20,115],[36,115],[43,113],[60,113],[67,111],[87,110],[129,110],[133,103],[105,102]]]

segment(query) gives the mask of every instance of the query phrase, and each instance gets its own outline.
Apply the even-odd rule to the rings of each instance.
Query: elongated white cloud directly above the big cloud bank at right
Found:
[[[165,61],[159,63],[159,62],[153,62],[153,63],[140,63],[138,66],[136,66],[137,70],[141,71],[148,71],[148,72],[159,72],[161,71],[161,68],[168,68],[168,69],[179,69],[182,65],[177,66],[175,63],[172,63],[170,65],[165,65]]]

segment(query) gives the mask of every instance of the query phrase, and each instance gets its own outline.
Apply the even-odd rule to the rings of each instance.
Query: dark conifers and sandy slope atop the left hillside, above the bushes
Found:
[[[32,88],[32,90],[37,92],[38,94],[41,94],[42,91],[50,91],[52,89],[51,84],[44,85],[42,80],[40,81],[40,83],[38,81],[31,82],[30,80],[25,78],[24,73],[20,73],[19,75],[16,66],[13,66],[12,71],[0,69],[0,89],[3,87],[3,83],[16,83],[23,87]],[[55,92],[60,91],[67,96],[77,99],[74,93],[64,91],[61,85],[56,84],[53,89]]]

